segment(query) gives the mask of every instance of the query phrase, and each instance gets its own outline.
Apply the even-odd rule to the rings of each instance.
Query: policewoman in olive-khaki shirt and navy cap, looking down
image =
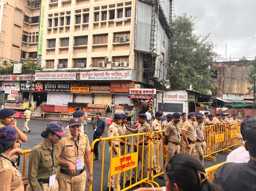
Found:
[[[56,179],[59,166],[59,148],[57,144],[67,134],[63,131],[60,122],[51,122],[46,130],[41,133],[45,138],[43,142],[35,146],[29,154],[27,191],[58,191]]]

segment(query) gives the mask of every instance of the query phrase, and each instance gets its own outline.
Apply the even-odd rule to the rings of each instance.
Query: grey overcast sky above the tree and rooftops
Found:
[[[255,56],[256,0],[175,0],[174,14],[184,12],[196,17],[198,33],[211,33],[215,51],[224,59],[226,43],[228,59]]]

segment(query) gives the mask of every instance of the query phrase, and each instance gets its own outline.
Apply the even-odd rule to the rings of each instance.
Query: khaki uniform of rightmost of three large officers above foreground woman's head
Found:
[[[206,143],[204,141],[204,126],[202,124],[198,124],[197,122],[194,122],[194,126],[196,128],[197,137],[202,140],[202,142],[196,140],[197,157],[199,160],[201,160],[202,163],[204,163],[204,150],[206,147]]]

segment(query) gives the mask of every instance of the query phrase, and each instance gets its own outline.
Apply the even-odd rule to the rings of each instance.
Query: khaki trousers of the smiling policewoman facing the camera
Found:
[[[60,173],[58,178],[59,182],[59,191],[63,190],[71,190],[71,178],[73,183],[73,190],[85,190],[85,183],[86,183],[86,171],[82,174],[74,177],[70,177],[69,175],[65,175]]]

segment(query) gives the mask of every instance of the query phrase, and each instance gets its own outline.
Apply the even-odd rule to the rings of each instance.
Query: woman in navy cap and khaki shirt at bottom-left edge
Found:
[[[18,138],[15,128],[11,125],[0,128],[0,177],[1,191],[24,190],[22,175],[11,160],[12,150]],[[18,154],[18,153],[17,153]],[[19,154],[22,154],[19,149]]]

